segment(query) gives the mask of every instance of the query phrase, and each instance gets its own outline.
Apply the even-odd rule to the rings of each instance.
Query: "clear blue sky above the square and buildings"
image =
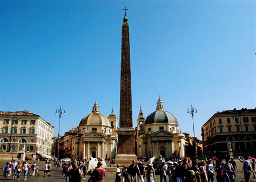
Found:
[[[215,112],[255,107],[254,1],[0,1],[0,110],[63,135],[91,112],[119,117],[121,30],[130,25],[133,125],[159,95],[196,136]]]

